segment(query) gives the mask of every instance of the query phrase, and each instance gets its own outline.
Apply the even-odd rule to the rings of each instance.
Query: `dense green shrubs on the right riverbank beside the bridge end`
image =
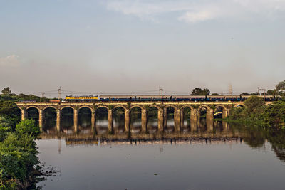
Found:
[[[244,101],[245,106],[232,109],[226,120],[243,125],[285,129],[285,102],[278,101],[271,105],[264,104],[265,102],[261,97],[249,97]]]

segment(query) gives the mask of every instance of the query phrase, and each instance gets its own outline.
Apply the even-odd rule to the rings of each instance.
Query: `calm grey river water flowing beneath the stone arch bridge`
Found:
[[[108,118],[80,116],[78,132],[72,115],[61,132],[47,120],[36,141],[44,169],[58,171],[39,181],[42,189],[284,189],[285,134],[224,122],[190,121],[175,132],[171,118],[161,134],[155,116],[149,132],[140,132],[132,116],[130,132],[115,118],[114,134]]]

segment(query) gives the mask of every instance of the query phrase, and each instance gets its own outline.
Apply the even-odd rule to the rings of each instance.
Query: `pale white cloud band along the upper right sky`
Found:
[[[285,11],[285,0],[110,0],[107,9],[140,19],[156,20],[161,14],[175,14],[175,19],[197,23],[220,18],[278,16]],[[177,16],[178,14],[178,16]]]

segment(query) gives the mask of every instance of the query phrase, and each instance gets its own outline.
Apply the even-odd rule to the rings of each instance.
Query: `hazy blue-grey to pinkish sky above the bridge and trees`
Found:
[[[285,0],[0,0],[0,88],[268,90],[284,33]]]

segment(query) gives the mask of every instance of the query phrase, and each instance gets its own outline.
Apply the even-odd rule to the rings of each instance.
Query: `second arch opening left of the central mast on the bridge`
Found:
[[[132,107],[130,109],[130,132],[141,132],[142,127],[142,108]]]

